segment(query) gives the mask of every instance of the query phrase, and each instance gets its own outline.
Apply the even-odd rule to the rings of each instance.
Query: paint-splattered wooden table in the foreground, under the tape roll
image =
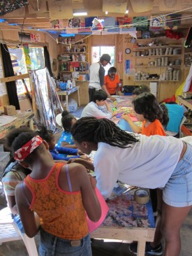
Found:
[[[107,203],[110,211],[103,224],[92,232],[94,239],[138,241],[138,256],[145,255],[145,243],[154,241],[154,215],[152,203],[137,204],[134,191],[123,192],[126,187],[114,188]]]

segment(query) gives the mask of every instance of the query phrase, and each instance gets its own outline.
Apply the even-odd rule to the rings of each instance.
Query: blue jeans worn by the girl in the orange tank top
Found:
[[[74,241],[60,239],[50,233],[40,229],[39,256],[91,256],[91,241],[89,234],[80,239],[80,244]]]

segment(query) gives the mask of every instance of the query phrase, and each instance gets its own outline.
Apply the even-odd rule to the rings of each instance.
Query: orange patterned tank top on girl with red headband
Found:
[[[46,232],[61,239],[79,240],[88,234],[82,194],[59,187],[58,177],[63,165],[54,164],[43,180],[34,180],[30,176],[24,179],[33,194],[29,208],[38,213]]]

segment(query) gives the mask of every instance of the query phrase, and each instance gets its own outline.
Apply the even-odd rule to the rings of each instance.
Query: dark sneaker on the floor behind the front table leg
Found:
[[[138,243],[137,242],[131,243],[131,245],[128,246],[128,249],[130,250],[131,253],[134,253],[135,255],[137,255],[137,253],[138,253]],[[149,255],[162,255],[163,254],[162,244],[160,243],[158,246],[153,248],[150,245],[150,243],[147,242],[146,246],[145,246],[145,253],[147,253]]]

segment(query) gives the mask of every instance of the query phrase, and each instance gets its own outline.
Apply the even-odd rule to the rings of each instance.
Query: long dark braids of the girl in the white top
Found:
[[[134,134],[122,131],[114,122],[108,119],[80,118],[71,129],[75,141],[104,142],[119,148],[128,148],[138,139]]]

